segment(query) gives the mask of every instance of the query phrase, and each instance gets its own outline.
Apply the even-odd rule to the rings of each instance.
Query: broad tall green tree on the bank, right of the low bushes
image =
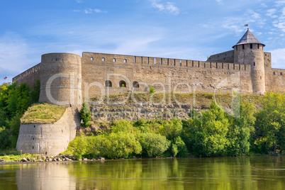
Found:
[[[189,125],[186,126],[189,131],[189,150],[200,156],[225,155],[230,123],[224,111],[213,101],[208,111],[202,111],[201,115],[189,118]]]

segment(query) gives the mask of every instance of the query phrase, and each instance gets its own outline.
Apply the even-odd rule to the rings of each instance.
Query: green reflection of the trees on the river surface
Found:
[[[274,169],[284,167],[281,160],[284,157],[108,160],[68,167],[77,177],[77,189],[281,189],[284,175]]]

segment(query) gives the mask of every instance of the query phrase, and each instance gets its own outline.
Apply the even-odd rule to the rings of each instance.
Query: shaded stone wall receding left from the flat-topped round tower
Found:
[[[25,72],[18,74],[16,77],[13,77],[12,81],[17,82],[18,84],[26,82],[30,87],[32,87],[36,79],[40,79],[40,63]]]

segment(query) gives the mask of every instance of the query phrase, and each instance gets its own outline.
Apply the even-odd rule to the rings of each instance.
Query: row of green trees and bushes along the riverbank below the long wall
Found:
[[[213,157],[275,155],[284,152],[285,94],[268,92],[262,108],[242,103],[235,94],[233,113],[226,113],[213,101],[206,111],[191,111],[189,118],[113,121],[111,130],[80,136],[69,145],[79,157]],[[86,104],[83,124],[90,123]]]

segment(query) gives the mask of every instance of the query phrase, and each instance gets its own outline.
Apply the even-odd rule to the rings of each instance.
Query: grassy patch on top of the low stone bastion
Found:
[[[64,106],[47,103],[34,104],[24,113],[21,123],[55,123],[65,113],[65,109]]]

